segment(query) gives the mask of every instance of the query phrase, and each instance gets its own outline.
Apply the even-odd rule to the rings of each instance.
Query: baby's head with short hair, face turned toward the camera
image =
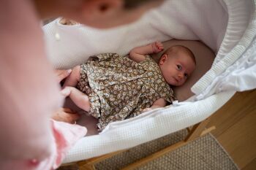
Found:
[[[176,54],[162,55],[159,67],[169,85],[180,86],[187,81],[187,78],[195,70],[195,63],[187,53],[178,51]]]

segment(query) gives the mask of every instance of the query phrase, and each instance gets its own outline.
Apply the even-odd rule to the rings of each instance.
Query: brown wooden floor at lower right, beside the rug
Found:
[[[236,93],[212,117],[208,127],[241,170],[256,169],[256,90]]]

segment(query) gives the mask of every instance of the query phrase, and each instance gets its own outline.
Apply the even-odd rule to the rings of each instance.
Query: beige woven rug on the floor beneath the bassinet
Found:
[[[121,169],[130,163],[134,163],[141,158],[145,158],[147,155],[151,155],[154,152],[170,146],[170,144],[175,144],[176,142],[181,141],[186,135],[187,131],[182,130],[174,134],[164,136],[160,139],[147,142],[146,144],[140,144],[139,146],[133,147],[126,152],[122,152],[113,158],[97,163],[96,169]],[[236,163],[233,162],[217,139],[215,139],[211,134],[207,134],[206,136],[202,136],[183,147],[179,147],[178,149],[173,150],[154,161],[140,166],[138,169],[237,170],[238,166],[236,166]]]

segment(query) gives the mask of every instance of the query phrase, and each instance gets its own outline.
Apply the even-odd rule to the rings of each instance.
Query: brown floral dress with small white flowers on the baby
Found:
[[[116,53],[89,58],[80,66],[77,88],[89,96],[90,115],[98,118],[102,130],[108,123],[140,115],[158,98],[174,99],[158,64],[149,56],[137,63]]]

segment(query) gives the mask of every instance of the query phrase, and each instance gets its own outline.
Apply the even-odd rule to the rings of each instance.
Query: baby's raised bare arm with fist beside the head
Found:
[[[164,46],[161,42],[153,42],[149,45],[144,45],[140,47],[135,47],[129,52],[129,58],[133,61],[140,62],[144,61],[145,55],[151,53],[159,53],[164,49]]]

